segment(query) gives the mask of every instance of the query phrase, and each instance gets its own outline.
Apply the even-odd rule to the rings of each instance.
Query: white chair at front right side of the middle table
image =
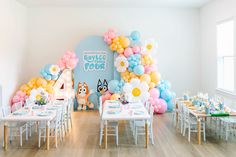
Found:
[[[153,113],[154,113],[154,108],[150,105],[150,108],[149,108],[150,120],[148,120],[148,134],[149,134],[149,138],[151,139],[152,144],[154,144],[153,124],[152,124]],[[134,121],[135,144],[138,143],[139,135],[145,135],[145,123],[146,122],[144,120]]]

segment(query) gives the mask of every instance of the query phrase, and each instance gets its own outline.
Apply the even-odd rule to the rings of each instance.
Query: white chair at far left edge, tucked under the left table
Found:
[[[6,117],[10,114],[10,106],[2,107],[2,115]],[[20,146],[22,147],[23,133],[25,132],[26,141],[28,141],[28,127],[27,123],[24,122],[9,122],[8,123],[10,142],[12,142],[12,137],[20,137]],[[4,144],[3,144],[4,145]]]

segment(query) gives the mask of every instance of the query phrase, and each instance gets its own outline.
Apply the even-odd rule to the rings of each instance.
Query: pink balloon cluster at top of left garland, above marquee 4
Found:
[[[59,60],[58,65],[61,68],[61,70],[64,70],[66,68],[74,69],[77,63],[78,63],[78,58],[76,54],[71,51],[66,51],[66,53]]]

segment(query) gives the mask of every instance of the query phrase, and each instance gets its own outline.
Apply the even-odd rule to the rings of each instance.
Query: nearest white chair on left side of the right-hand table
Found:
[[[188,129],[188,141],[190,142],[191,132],[198,132],[196,117],[190,116],[189,109],[183,105],[183,136],[185,136],[186,129]],[[206,141],[205,121],[201,121],[201,132],[203,132],[204,141]]]

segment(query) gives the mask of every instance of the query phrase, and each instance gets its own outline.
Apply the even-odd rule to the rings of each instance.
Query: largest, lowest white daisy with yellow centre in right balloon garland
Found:
[[[123,87],[123,91],[129,102],[147,101],[150,96],[148,89],[148,84],[146,82],[140,82],[137,78],[133,78],[130,83],[126,83]]]

